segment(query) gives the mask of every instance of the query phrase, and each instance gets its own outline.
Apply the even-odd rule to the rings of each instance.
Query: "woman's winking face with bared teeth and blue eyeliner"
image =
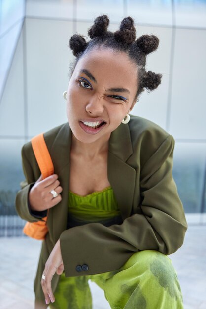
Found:
[[[67,92],[67,118],[76,139],[109,139],[131,111],[136,93],[137,67],[125,53],[99,49],[83,56]]]

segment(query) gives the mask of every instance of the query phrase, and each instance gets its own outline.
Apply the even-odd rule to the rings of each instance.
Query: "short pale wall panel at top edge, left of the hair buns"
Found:
[[[73,0],[27,0],[27,16],[73,18]]]

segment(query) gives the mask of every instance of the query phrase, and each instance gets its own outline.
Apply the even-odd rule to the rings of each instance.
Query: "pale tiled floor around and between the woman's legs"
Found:
[[[32,309],[40,242],[0,238],[0,309]],[[170,255],[182,288],[184,309],[206,309],[206,225],[189,226],[184,245]],[[109,309],[103,291],[90,282],[93,308]]]

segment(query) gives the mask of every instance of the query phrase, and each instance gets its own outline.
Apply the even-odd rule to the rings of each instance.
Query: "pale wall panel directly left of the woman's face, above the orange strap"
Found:
[[[72,22],[26,21],[29,135],[67,121],[62,93],[69,82],[71,35]]]

